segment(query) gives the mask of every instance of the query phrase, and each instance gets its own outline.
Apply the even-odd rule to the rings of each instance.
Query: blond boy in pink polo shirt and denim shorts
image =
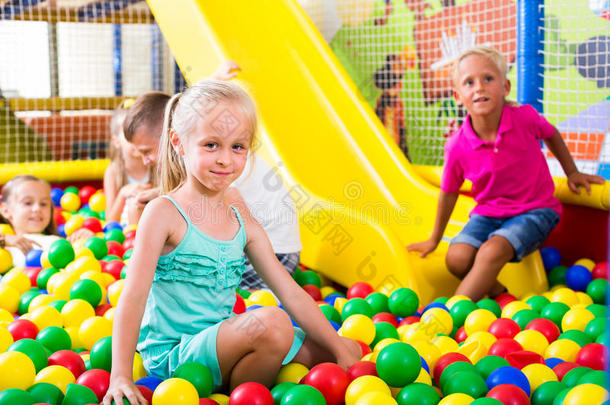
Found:
[[[520,261],[544,242],[559,222],[561,204],[540,149],[542,139],[566,173],[574,193],[599,176],[580,173],[559,131],[529,105],[506,100],[510,81],[504,56],[493,48],[470,48],[454,65],[454,96],[468,115],[445,145],[445,167],[430,239],[407,247],[424,257],[438,246],[459,189],[472,181],[477,206],[451,241],[447,268],[462,279],[456,295],[473,300],[506,291],[497,281],[502,267]]]

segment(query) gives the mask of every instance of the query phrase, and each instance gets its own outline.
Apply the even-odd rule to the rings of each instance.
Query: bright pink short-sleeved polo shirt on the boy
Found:
[[[555,128],[530,105],[502,110],[495,142],[477,136],[466,116],[445,144],[441,190],[457,193],[465,179],[472,181],[477,206],[471,214],[507,218],[538,208],[561,214],[561,203],[540,148]]]

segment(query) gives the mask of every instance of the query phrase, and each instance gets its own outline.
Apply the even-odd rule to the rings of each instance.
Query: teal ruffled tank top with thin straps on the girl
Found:
[[[201,232],[176,201],[163,197],[174,204],[187,228],[178,246],[159,257],[140,326],[140,351],[177,344],[184,335],[234,316],[235,289],[245,269],[246,231],[235,207],[239,231],[222,241]]]

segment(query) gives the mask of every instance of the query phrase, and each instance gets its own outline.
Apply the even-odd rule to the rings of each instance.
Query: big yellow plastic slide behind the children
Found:
[[[474,207],[460,197],[446,240],[425,259],[409,243],[432,231],[438,189],[414,171],[296,0],[148,0],[189,83],[226,58],[243,69],[261,118],[257,150],[299,209],[302,262],[349,286],[451,295],[447,240]],[[517,295],[547,288],[540,255],[500,275]]]

